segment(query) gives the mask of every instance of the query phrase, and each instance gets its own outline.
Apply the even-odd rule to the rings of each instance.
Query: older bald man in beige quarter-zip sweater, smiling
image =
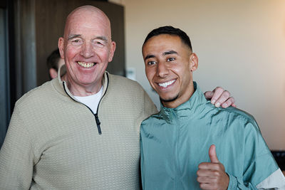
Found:
[[[157,110],[138,83],[105,71],[115,51],[108,17],[78,7],[58,47],[66,74],[16,102],[0,189],[139,189],[140,122]]]

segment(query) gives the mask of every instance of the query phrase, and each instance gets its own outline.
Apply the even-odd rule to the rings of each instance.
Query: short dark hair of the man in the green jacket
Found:
[[[147,37],[145,38],[145,42],[142,44],[142,46],[145,45],[145,43],[152,38],[153,36],[158,36],[160,34],[169,34],[174,36],[179,36],[181,41],[187,45],[190,50],[192,51],[192,45],[189,36],[187,36],[187,33],[185,31],[180,30],[180,28],[174,28],[173,26],[162,26],[160,28],[155,28],[150,33],[147,34]]]

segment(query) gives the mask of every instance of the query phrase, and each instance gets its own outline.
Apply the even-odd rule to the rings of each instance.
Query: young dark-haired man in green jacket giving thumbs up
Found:
[[[162,105],[140,127],[143,189],[285,189],[254,118],[214,107],[193,82],[198,58],[184,31],[151,31],[142,56]]]

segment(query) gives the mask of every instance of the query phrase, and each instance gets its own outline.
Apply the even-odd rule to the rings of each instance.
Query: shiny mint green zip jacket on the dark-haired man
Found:
[[[210,162],[211,144],[229,175],[228,189],[268,187],[262,181],[284,188],[284,176],[254,118],[234,107],[214,107],[194,85],[190,100],[176,108],[162,106],[142,122],[142,188],[199,189],[198,165]],[[277,177],[269,177],[274,171]]]

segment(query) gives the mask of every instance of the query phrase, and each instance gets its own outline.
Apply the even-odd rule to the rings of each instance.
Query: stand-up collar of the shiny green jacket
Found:
[[[202,91],[199,89],[199,86],[197,85],[196,82],[193,82],[194,84],[194,89],[195,92],[193,95],[190,97],[187,102],[182,103],[182,105],[179,105],[178,107],[175,108],[168,108],[164,107],[162,103],[160,102],[161,105],[161,110],[160,110],[160,115],[163,117],[164,120],[167,122],[171,122],[173,119],[189,119],[193,117],[194,115],[197,115],[199,112],[202,112],[203,107],[207,100],[204,97],[204,94]]]

